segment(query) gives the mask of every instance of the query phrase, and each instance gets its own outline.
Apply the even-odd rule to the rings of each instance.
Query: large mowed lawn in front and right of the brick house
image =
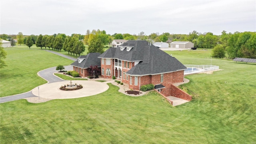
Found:
[[[210,52],[167,53],[183,64],[210,64]],[[119,93],[112,84],[106,92],[84,98],[39,104],[26,100],[2,103],[0,142],[255,143],[256,64],[212,59],[212,65],[222,70],[186,76],[190,82],[180,88],[193,100],[176,107],[156,92],[131,97]]]

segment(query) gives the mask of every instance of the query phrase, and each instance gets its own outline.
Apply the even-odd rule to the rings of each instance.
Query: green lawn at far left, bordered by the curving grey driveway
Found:
[[[37,72],[53,66],[70,65],[73,61],[42,50],[19,50],[5,48],[7,57],[6,66],[1,68],[0,96],[10,96],[28,92],[45,84]]]

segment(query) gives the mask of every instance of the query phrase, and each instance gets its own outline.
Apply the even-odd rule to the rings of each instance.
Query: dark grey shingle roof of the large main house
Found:
[[[120,46],[134,46],[130,51],[120,50]],[[129,40],[117,48],[109,48],[99,58],[116,58],[125,61],[140,61],[126,72],[133,76],[154,75],[178,70],[186,70],[180,61],[160,50],[154,45],[148,45],[146,40]],[[115,50],[114,50],[115,49]],[[112,54],[112,55],[110,55]],[[113,55],[114,54],[114,55]]]

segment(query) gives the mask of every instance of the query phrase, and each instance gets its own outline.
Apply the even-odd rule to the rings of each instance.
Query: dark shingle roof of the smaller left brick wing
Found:
[[[91,52],[87,54],[86,56],[80,56],[78,60],[70,64],[71,66],[76,66],[79,68],[89,68],[90,66],[98,66],[100,67],[100,53],[98,52]],[[82,60],[82,62],[79,63],[79,59]]]

